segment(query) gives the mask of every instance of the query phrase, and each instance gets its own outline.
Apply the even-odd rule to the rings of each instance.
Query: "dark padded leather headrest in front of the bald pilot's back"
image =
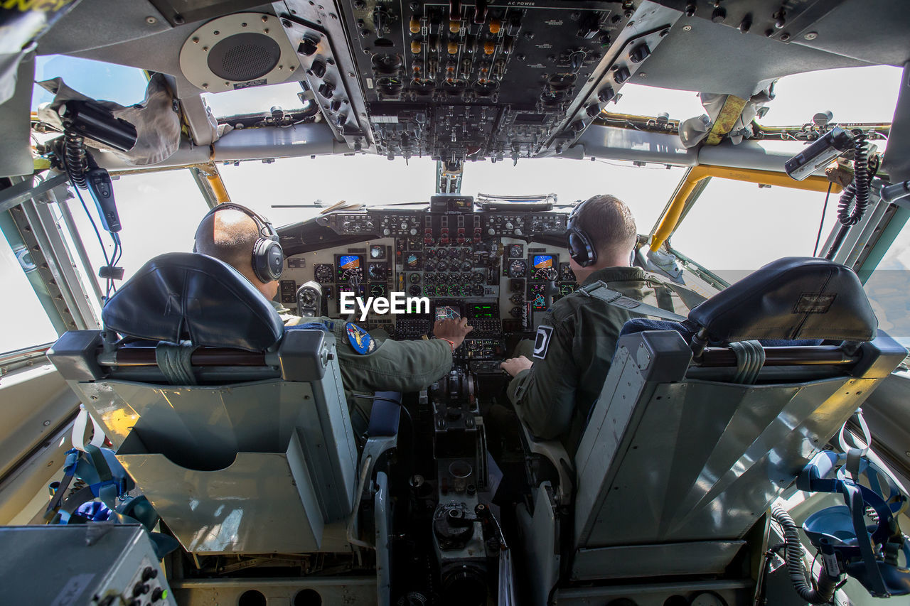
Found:
[[[123,336],[248,351],[270,348],[284,330],[275,308],[237,269],[195,253],[148,261],[101,316]]]

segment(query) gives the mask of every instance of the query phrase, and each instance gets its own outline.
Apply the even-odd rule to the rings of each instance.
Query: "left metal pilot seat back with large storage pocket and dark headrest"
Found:
[[[104,318],[140,345],[72,331],[48,357],[184,548],[347,548],[324,530],[352,510],[357,462],[333,335],[283,332],[246,278],[189,254],[150,261]]]

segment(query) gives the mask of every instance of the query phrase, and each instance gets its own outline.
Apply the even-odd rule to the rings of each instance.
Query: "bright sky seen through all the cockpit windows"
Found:
[[[137,79],[136,70],[99,64],[89,77],[86,74],[91,70],[69,68],[68,61],[73,60],[39,57],[36,79],[65,74],[67,84],[86,95],[124,105],[141,101],[144,80],[142,76]],[[763,123],[802,124],[824,109],[833,111],[835,121],[889,122],[899,80],[900,70],[886,66],[788,76],[776,86],[777,99]],[[206,97],[216,115],[229,115],[266,111],[272,105],[286,109],[299,106],[298,91],[299,86],[291,83],[252,88],[242,91],[242,95]],[[46,100],[48,96],[40,96],[35,102]],[[666,111],[674,119],[703,113],[693,92],[632,85],[622,88],[622,99],[615,106],[608,106],[608,110],[642,115]],[[800,144],[790,145],[793,153],[799,147]],[[257,209],[277,225],[312,217],[319,209],[274,206],[312,205],[317,200],[331,204],[341,199],[370,205],[426,201],[434,191],[435,179],[435,163],[428,158],[412,158],[406,164],[402,159],[389,161],[383,157],[301,157],[279,159],[271,164],[244,162],[238,167],[219,169],[232,200]],[[512,167],[509,160],[495,165],[486,161],[466,165],[462,193],[556,193],[560,203],[612,193],[632,207],[639,232],[648,233],[683,172],[679,167],[632,167],[629,163],[603,160],[525,159],[517,167]],[[157,254],[192,247],[197,221],[207,208],[188,171],[122,177],[115,181],[115,193],[124,226],[122,265],[127,278]],[[86,201],[92,204],[90,199]],[[754,269],[774,258],[808,256],[813,252],[823,204],[824,194],[782,187],[759,189],[750,184],[714,179],[672,243],[707,267],[721,270]],[[77,200],[71,200],[70,207],[97,268],[102,256],[94,232]],[[823,242],[833,225],[835,209],[836,197],[832,197]],[[96,212],[94,208],[92,211]],[[105,242],[110,250],[107,239]],[[6,259],[0,268],[5,275],[15,273],[15,259]],[[15,288],[15,292],[22,300],[6,298],[9,311],[21,309],[24,303],[35,308],[36,301],[29,289]],[[37,311],[40,315],[40,308]],[[0,317],[10,325],[4,327],[5,342],[0,349],[10,350],[35,342],[36,324],[32,321],[23,326],[13,319],[15,313]],[[52,332],[49,338],[53,338]]]

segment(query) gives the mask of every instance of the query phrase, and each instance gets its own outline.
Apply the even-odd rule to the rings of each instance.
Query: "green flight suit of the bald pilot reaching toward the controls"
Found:
[[[348,399],[354,435],[362,436],[369,426],[373,401],[357,394],[372,396],[374,391],[420,391],[442,378],[452,368],[452,350],[448,341],[429,339],[395,341],[383,330],[374,330],[369,338],[375,348],[361,354],[351,344],[347,322],[338,318],[300,318],[272,301],[285,326],[319,322],[330,327],[338,349],[341,382]]]

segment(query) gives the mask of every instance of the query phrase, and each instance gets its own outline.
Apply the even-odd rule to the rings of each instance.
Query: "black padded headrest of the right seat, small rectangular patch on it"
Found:
[[[712,340],[869,341],[878,320],[853,270],[815,257],[769,263],[689,312]]]

